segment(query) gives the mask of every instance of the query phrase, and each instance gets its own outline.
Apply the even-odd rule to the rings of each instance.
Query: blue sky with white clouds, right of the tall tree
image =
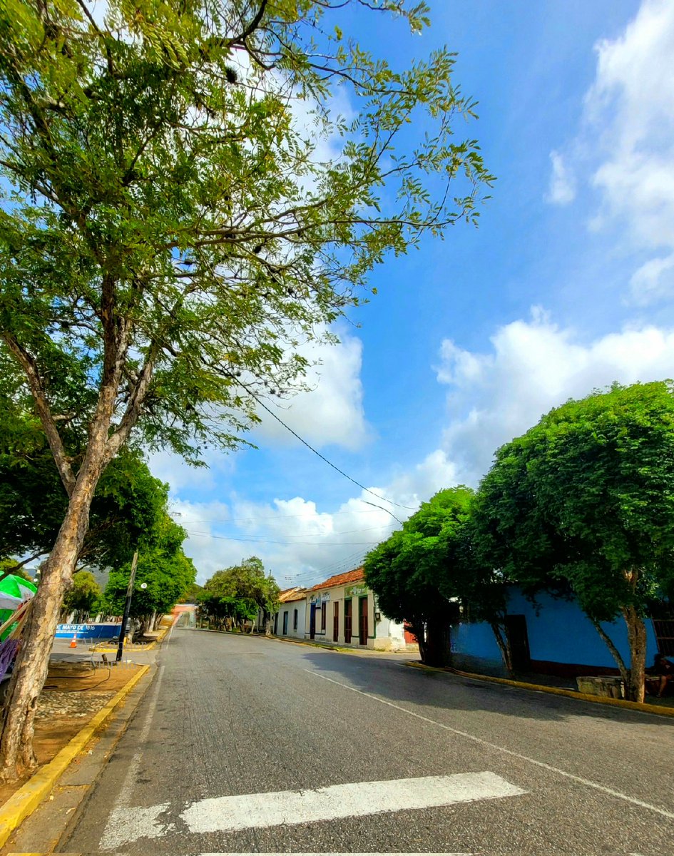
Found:
[[[379,16],[352,27],[400,63],[458,51],[455,81],[480,116],[458,135],[480,140],[493,199],[479,229],[456,226],[375,270],[378,294],[338,325],[342,344],[311,352],[315,389],[278,411],[399,504],[270,419],[257,449],[212,453],[208,471],[155,455],[201,582],[252,554],[281,587],[356,567],[393,515],[476,485],[550,407],[674,375],[674,3],[431,7],[421,37]]]

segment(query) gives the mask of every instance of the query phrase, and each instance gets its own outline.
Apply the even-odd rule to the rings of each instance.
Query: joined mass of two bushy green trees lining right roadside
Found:
[[[574,597],[644,696],[645,619],[674,596],[674,395],[614,384],[506,443],[478,490],[440,490],[364,562],[381,609],[408,621],[425,663],[449,662],[450,627],[487,621],[506,669],[508,586]],[[630,668],[601,622],[622,619]]]

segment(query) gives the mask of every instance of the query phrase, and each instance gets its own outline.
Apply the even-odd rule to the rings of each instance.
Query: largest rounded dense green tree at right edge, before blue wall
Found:
[[[674,595],[674,396],[670,382],[617,384],[568,401],[499,449],[476,526],[524,591],[569,591],[643,700],[644,618]],[[622,617],[627,669],[601,621]]]

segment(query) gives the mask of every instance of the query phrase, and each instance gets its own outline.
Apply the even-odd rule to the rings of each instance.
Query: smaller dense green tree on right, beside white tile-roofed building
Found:
[[[450,625],[465,589],[464,526],[472,497],[463,485],[440,490],[365,556],[365,579],[382,611],[411,626],[423,663],[433,666],[451,658]]]

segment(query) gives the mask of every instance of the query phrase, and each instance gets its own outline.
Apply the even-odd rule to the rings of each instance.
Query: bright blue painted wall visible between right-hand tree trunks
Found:
[[[556,599],[547,594],[530,603],[520,591],[511,591],[508,602],[510,615],[524,615],[527,621],[529,653],[532,660],[551,663],[576,663],[615,668],[610,651],[600,639],[592,622],[574,601]],[[630,646],[624,621],[605,622],[602,627],[630,664]],[[647,660],[653,661],[657,649],[653,622],[646,622]],[[500,651],[488,624],[460,624],[452,627],[452,651],[471,657],[500,662]]]

